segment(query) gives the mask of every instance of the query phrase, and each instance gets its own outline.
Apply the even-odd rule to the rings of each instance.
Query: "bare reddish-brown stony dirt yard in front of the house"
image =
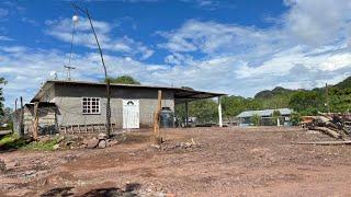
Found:
[[[138,131],[106,149],[0,153],[8,167],[0,196],[351,195],[350,146],[292,143],[331,140],[321,134],[283,127],[165,132],[161,149]]]

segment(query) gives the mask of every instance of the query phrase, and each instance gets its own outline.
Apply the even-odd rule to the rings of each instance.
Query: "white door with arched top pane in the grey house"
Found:
[[[139,128],[139,100],[123,100],[123,128]]]

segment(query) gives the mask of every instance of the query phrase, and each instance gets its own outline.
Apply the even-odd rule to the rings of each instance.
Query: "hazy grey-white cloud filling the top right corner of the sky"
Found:
[[[301,42],[324,45],[350,37],[350,0],[286,0],[285,28]]]

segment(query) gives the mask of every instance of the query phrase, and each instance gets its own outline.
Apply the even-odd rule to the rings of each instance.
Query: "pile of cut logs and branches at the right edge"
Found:
[[[318,130],[330,137],[350,140],[351,125],[349,115],[319,114],[318,116],[305,116],[301,125],[308,130]]]

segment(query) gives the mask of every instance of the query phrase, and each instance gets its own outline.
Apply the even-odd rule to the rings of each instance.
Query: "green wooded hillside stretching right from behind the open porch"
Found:
[[[223,96],[223,115],[234,117],[244,111],[283,108],[294,109],[299,115],[315,115],[318,112],[328,112],[326,106],[326,88],[313,90],[290,90],[276,86],[273,90],[264,90],[253,97]],[[348,113],[351,111],[351,77],[337,83],[328,85],[329,107],[333,113]],[[191,102],[189,115],[200,119],[217,119],[217,104],[214,100]],[[184,117],[184,107],[177,106],[178,117]],[[204,117],[203,117],[204,116]]]

